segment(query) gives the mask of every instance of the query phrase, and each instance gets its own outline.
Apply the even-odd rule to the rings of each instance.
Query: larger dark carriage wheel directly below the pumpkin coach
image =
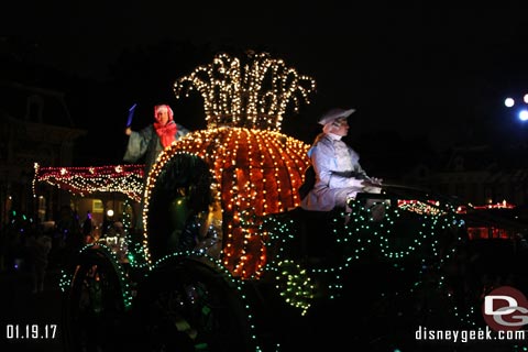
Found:
[[[140,283],[134,308],[148,351],[252,351],[240,293],[210,266],[179,258]]]

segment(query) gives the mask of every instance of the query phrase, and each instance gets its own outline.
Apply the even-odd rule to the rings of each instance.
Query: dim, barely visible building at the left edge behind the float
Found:
[[[34,198],[34,164],[73,165],[74,144],[86,131],[75,128],[61,91],[0,81],[0,177],[2,224],[10,212],[51,220],[57,207],[68,205],[68,195],[42,189]]]

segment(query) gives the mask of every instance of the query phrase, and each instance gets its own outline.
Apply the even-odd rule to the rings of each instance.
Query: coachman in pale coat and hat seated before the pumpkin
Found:
[[[382,179],[367,176],[360,155],[342,138],[349,133],[348,118],[355,109],[331,109],[319,120],[319,133],[308,151],[315,172],[315,185],[302,198],[305,210],[350,211],[348,200],[358,193],[381,193]]]

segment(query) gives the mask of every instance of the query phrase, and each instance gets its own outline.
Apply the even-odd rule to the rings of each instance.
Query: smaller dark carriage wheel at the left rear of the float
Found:
[[[82,253],[68,288],[63,305],[66,350],[120,350],[124,304],[110,260],[98,250]]]

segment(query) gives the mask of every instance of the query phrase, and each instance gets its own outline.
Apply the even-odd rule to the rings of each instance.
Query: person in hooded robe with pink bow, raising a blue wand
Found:
[[[148,174],[160,153],[174,141],[178,141],[189,133],[189,130],[174,121],[173,109],[170,109],[168,105],[157,105],[154,107],[154,122],[152,124],[138,132],[133,131],[129,125],[124,130],[124,133],[129,135],[129,142],[123,161],[127,163],[135,163],[144,158],[144,185],[146,186]],[[136,230],[143,228],[143,208],[144,200],[142,199],[136,221]]]

